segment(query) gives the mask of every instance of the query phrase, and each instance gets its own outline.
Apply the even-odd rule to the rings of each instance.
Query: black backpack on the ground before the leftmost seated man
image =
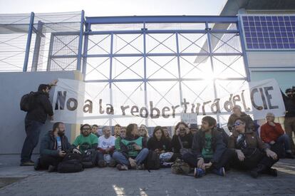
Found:
[[[81,172],[83,171],[83,165],[81,163],[82,156],[77,153],[67,153],[63,158],[63,161],[58,164],[58,172]]]

